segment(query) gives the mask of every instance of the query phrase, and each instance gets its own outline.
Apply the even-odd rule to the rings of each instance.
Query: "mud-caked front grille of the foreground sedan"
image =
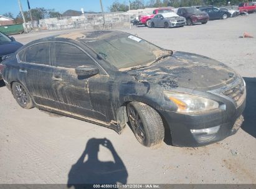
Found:
[[[235,103],[239,104],[239,99],[245,92],[244,82],[240,80],[240,82],[235,85],[233,88],[222,92],[225,96],[229,96],[230,98],[234,99]]]

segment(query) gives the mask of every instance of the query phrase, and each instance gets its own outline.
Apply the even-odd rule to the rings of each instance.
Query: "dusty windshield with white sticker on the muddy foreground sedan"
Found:
[[[161,57],[171,55],[171,51],[130,34],[118,34],[85,44],[120,71],[146,67]]]

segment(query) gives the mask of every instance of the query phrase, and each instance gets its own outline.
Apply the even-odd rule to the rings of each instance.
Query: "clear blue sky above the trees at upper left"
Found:
[[[115,0],[102,0],[104,11],[108,11],[108,7]],[[120,2],[124,2],[121,0]],[[127,1],[128,2],[128,1]],[[27,0],[21,0],[23,11],[27,11]],[[100,0],[29,0],[29,4],[32,8],[45,7],[45,9],[55,9],[63,13],[69,9],[80,11],[83,7],[84,11],[101,12]],[[0,0],[0,15],[11,12],[14,17],[19,14],[19,4],[17,0]]]

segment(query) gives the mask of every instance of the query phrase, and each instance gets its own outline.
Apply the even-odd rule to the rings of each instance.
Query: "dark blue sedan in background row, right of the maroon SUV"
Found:
[[[227,19],[231,16],[231,14],[228,11],[221,11],[220,9],[214,6],[201,6],[198,8],[200,11],[206,12],[209,15],[210,20]]]

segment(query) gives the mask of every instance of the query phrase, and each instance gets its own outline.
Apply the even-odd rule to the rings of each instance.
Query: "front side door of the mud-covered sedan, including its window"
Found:
[[[107,121],[106,114],[93,107],[89,85],[92,78],[98,78],[98,80],[103,78],[104,81],[107,81],[107,78],[101,74],[80,77],[75,73],[75,68],[80,66],[101,70],[97,63],[77,45],[65,42],[54,42],[52,53],[54,65],[52,80],[55,100],[59,103],[59,109],[88,118]]]

